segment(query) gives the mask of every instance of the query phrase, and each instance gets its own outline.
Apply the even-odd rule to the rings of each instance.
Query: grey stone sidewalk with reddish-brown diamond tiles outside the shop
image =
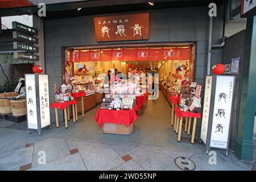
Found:
[[[2,122],[2,121],[0,121]],[[79,121],[82,122],[82,121]],[[70,123],[69,125],[76,125]],[[64,127],[64,126],[60,126]],[[72,128],[72,127],[70,127]],[[210,165],[203,148],[182,143],[176,147],[150,146],[138,143],[108,144],[101,140],[61,136],[44,130],[41,136],[26,130],[0,128],[0,170],[181,170],[175,158],[191,159],[195,170],[252,170],[254,162],[241,162],[232,155],[226,158],[217,151],[217,164]],[[64,131],[69,131],[64,130]],[[106,135],[106,136],[104,136]],[[102,134],[108,137],[108,134]],[[40,165],[42,151],[46,165]]]

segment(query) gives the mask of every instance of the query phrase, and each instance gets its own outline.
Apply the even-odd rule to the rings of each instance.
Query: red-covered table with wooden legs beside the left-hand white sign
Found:
[[[67,107],[72,105],[73,110],[73,122],[76,122],[76,115],[75,113],[75,104],[77,104],[76,100],[73,101],[67,101],[63,103],[59,102],[53,102],[51,105],[49,105],[51,108],[55,108],[55,117],[56,117],[56,127],[59,127],[59,118],[58,118],[58,111],[57,109],[64,110],[64,116],[65,116],[65,127],[68,128],[68,114],[67,114]]]

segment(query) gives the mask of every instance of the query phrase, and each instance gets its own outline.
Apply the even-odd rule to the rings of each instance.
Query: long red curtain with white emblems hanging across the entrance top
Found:
[[[113,48],[92,49],[69,52],[69,61],[162,61],[162,60],[189,60],[191,47],[175,48]],[[179,67],[180,70],[187,69],[188,65]]]

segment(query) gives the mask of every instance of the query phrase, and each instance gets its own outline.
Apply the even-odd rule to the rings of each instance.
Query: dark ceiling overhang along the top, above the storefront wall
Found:
[[[209,3],[225,3],[228,0],[158,0],[155,5],[148,5],[145,0],[94,0],[47,5],[47,16],[44,19],[72,18],[76,16],[122,13],[129,11],[143,11],[156,9],[170,9],[177,7],[208,6]],[[125,4],[126,3],[126,4]],[[77,8],[82,7],[80,11]],[[0,9],[0,16],[34,14],[38,7],[20,7],[16,9]]]

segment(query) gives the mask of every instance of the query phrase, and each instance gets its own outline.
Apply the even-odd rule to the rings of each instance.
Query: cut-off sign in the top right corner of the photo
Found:
[[[256,0],[242,0],[242,17],[253,17],[256,15]]]

